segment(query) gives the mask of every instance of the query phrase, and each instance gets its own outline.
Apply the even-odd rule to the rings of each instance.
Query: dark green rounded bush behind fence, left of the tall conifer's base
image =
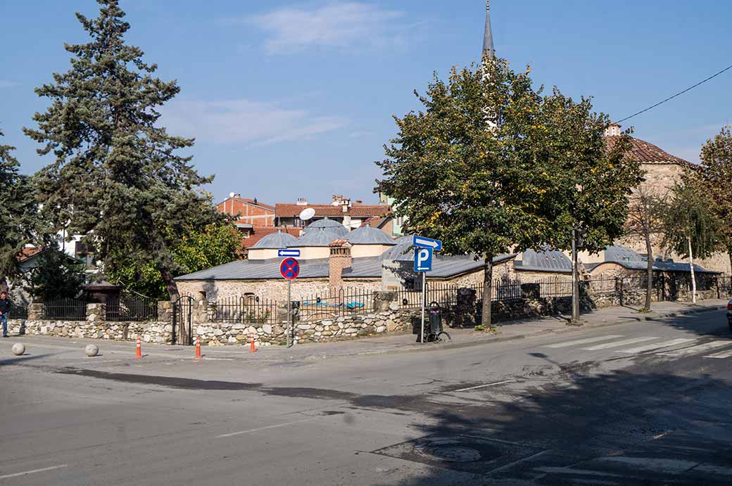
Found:
[[[38,266],[26,275],[26,291],[37,302],[72,299],[81,292],[86,281],[83,264],[55,246],[43,250]]]

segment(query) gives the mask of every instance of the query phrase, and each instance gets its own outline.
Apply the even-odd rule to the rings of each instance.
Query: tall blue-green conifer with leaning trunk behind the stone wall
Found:
[[[173,247],[190,228],[220,218],[200,190],[211,178],[179,154],[193,139],[158,123],[160,106],[179,92],[176,81],[154,78],[157,66],[125,44],[130,24],[118,1],[97,1],[99,17],[76,14],[91,39],[65,46],[71,69],[36,89],[51,105],[25,132],[55,158],[39,174],[40,199],[57,228],[68,223],[69,233],[85,235],[105,272],[149,263],[174,299]]]

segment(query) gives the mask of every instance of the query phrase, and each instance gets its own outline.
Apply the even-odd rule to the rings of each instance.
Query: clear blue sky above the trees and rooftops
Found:
[[[217,201],[376,201],[374,160],[395,135],[392,113],[419,108],[433,71],[479,60],[484,0],[122,0],[127,40],[177,79],[163,110],[192,149]],[[21,129],[46,101],[33,89],[69,67],[64,42],[86,42],[73,15],[93,0],[0,4],[0,129],[23,171],[48,162]],[[493,0],[498,56],[534,81],[594,97],[621,119],[732,64],[732,2]],[[732,71],[624,125],[698,161],[701,144],[732,123]]]

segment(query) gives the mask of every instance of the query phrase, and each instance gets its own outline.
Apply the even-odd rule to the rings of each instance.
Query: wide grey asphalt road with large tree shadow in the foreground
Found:
[[[333,359],[21,340],[0,485],[732,484],[722,312]]]

